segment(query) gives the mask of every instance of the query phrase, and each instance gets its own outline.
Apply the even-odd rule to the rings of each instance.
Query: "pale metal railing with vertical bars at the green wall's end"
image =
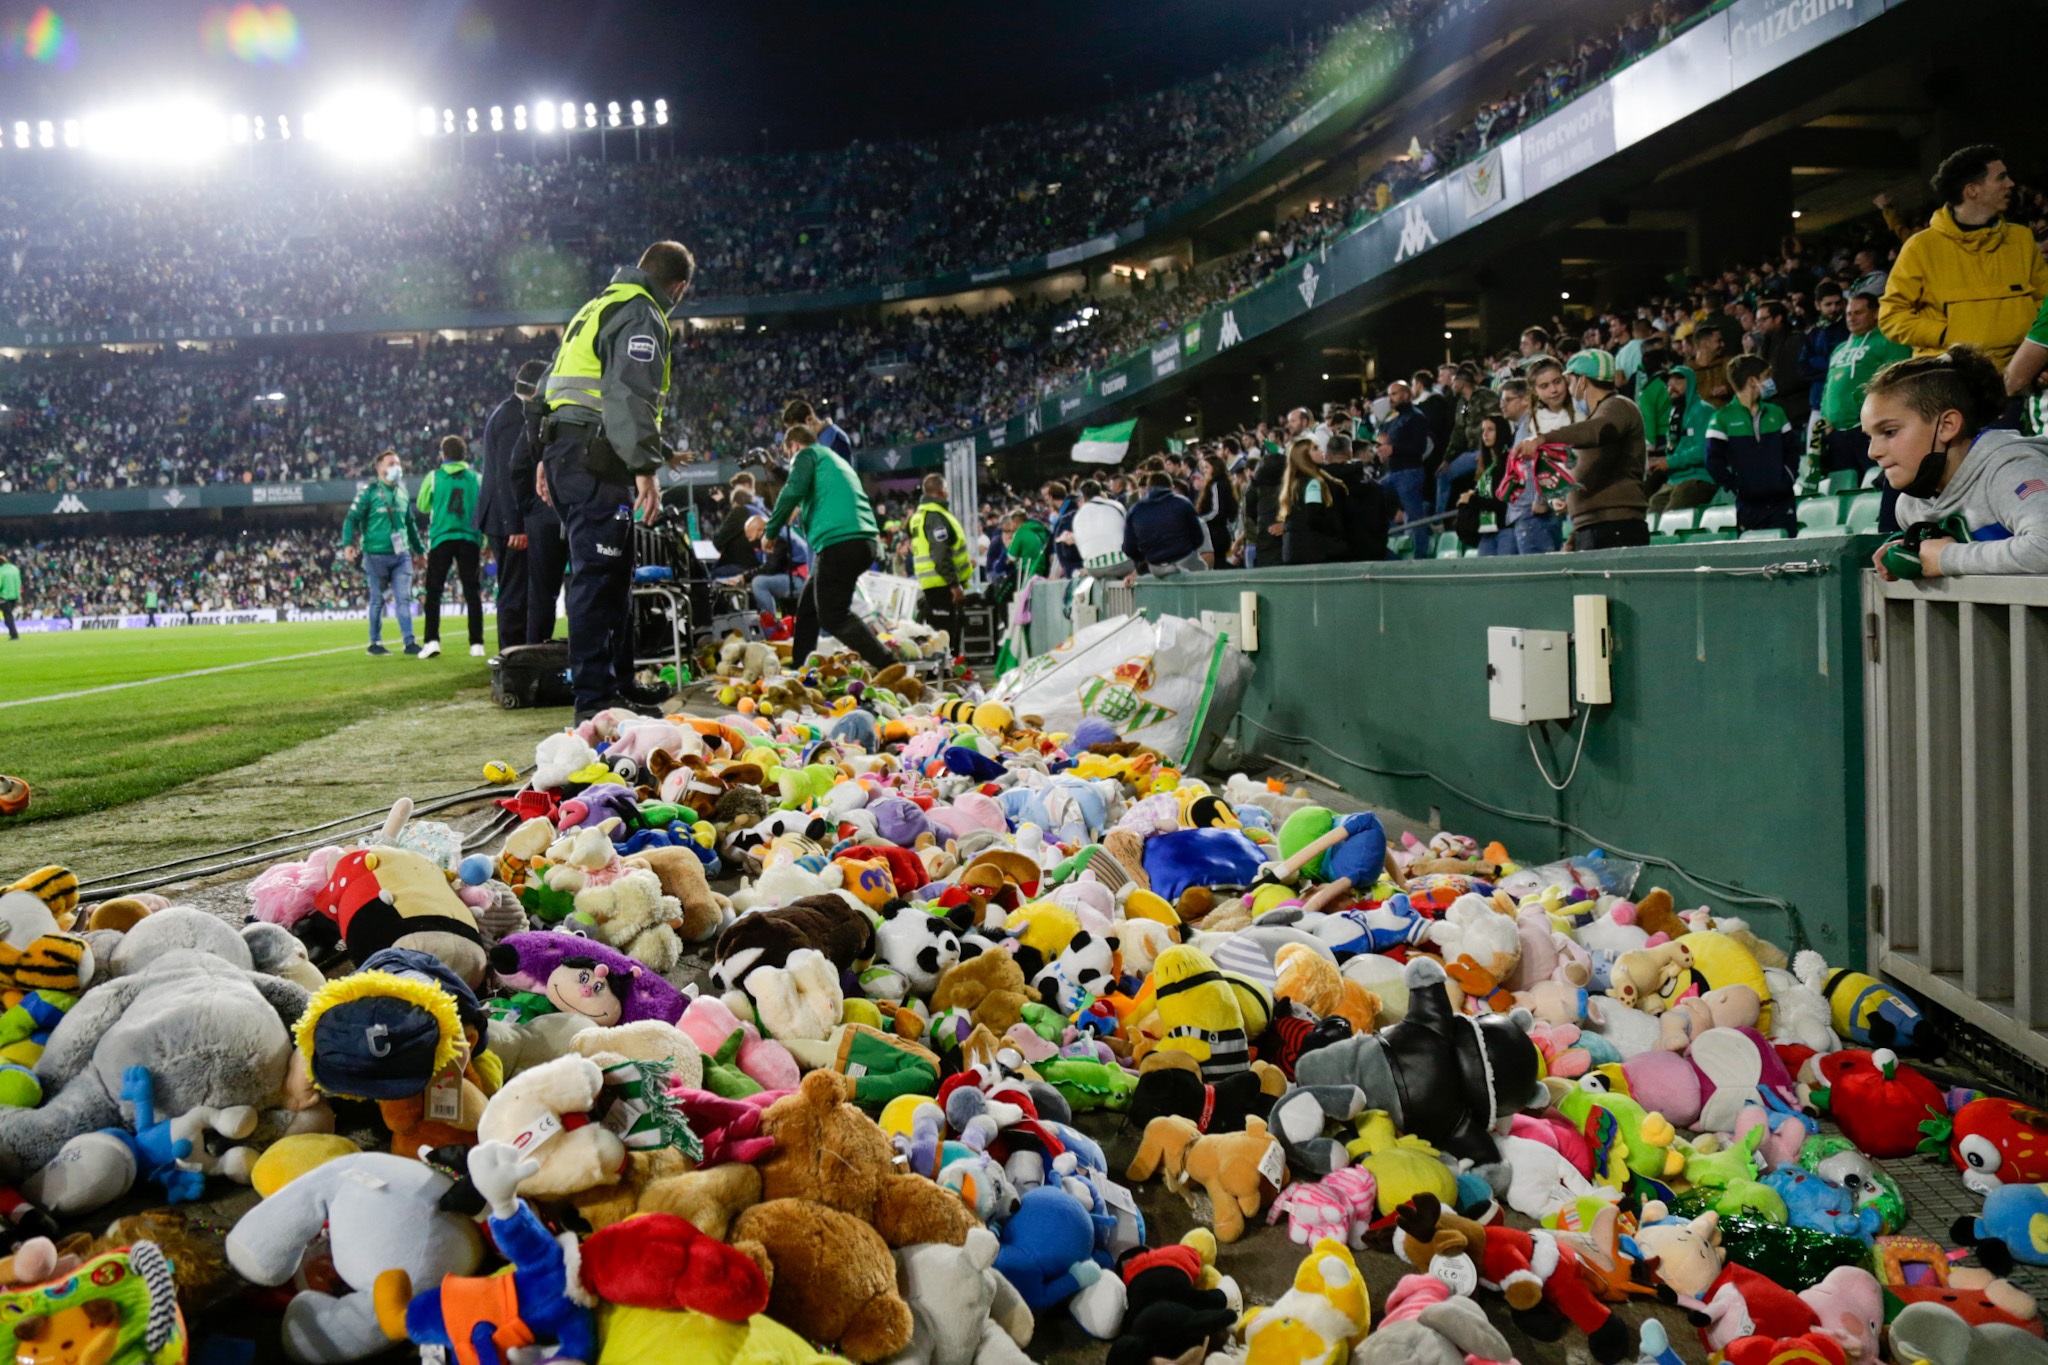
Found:
[[[1864,583],[1870,966],[2048,1064],[2048,579]]]

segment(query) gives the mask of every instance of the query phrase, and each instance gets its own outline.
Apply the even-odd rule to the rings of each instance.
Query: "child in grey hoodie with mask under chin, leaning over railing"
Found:
[[[1960,516],[1970,540],[1921,542],[1923,577],[2048,573],[2048,444],[1991,430],[2005,379],[1974,346],[1884,366],[1864,393],[1870,458],[1898,489],[1898,524]],[[1882,551],[1878,573],[1892,577]]]

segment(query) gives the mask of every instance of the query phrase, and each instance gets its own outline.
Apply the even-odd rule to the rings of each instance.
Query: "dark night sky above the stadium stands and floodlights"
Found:
[[[293,113],[338,84],[377,80],[410,100],[508,113],[541,96],[666,96],[684,149],[758,151],[762,129],[774,149],[831,147],[1087,106],[1362,4],[299,0],[289,18],[281,8],[0,0],[0,117],[74,117],[172,92]]]

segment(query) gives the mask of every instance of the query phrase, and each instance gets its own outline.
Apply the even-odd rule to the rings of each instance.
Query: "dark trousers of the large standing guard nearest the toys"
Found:
[[[602,710],[633,681],[633,481],[588,465],[590,426],[563,426],[541,456],[569,544],[569,671],[575,710]],[[535,585],[528,585],[528,591]]]

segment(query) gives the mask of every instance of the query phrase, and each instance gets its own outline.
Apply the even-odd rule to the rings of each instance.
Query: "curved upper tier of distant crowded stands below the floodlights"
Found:
[[[942,276],[1042,274],[1243,180],[1430,31],[1487,0],[1382,0],[1296,45],[1081,115],[838,151],[563,158],[539,137],[336,174],[268,145],[174,178],[59,164],[0,188],[0,321],[23,332],[573,309],[657,237],[698,254],[690,309]],[[1370,78],[1370,80],[1360,80]],[[526,145],[530,141],[530,147]],[[621,141],[631,156],[631,141]],[[530,156],[528,156],[530,151]],[[561,158],[561,160],[549,160]],[[905,293],[905,291],[891,291]],[[918,293],[930,293],[918,289]]]

